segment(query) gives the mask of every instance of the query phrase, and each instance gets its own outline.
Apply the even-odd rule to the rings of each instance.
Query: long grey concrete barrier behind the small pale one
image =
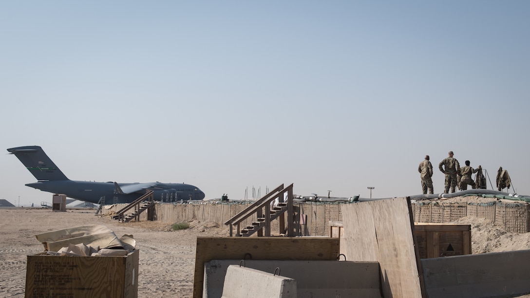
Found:
[[[298,297],[381,297],[379,264],[350,261],[212,260],[205,263],[202,297],[220,298],[230,265],[296,280]]]

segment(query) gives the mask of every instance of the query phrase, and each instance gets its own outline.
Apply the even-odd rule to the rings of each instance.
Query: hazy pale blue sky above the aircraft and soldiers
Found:
[[[26,145],[231,199],[417,195],[426,154],[439,193],[452,150],[530,195],[529,37],[528,1],[3,1],[0,198],[51,202]]]

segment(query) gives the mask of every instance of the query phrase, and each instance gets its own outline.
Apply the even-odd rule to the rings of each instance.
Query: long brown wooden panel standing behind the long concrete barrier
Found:
[[[211,260],[337,260],[338,238],[197,237],[193,297],[202,297],[204,264]]]

